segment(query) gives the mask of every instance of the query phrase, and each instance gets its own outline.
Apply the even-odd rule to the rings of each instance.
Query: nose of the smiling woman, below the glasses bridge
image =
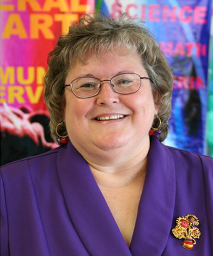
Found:
[[[109,80],[101,81],[101,91],[97,95],[98,105],[111,105],[119,102],[119,94],[112,89]]]

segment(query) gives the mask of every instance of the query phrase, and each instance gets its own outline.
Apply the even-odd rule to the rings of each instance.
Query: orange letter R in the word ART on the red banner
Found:
[[[52,26],[53,20],[48,14],[31,14],[30,15],[30,37],[39,38],[41,32],[46,39],[53,39],[54,35],[49,28]]]

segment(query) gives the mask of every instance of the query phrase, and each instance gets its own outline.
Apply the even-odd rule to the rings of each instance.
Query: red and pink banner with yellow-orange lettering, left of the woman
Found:
[[[58,146],[43,101],[47,55],[94,8],[92,0],[1,1],[1,164]]]

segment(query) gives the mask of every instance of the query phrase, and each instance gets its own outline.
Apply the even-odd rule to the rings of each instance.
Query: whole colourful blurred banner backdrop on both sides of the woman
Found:
[[[43,102],[47,55],[71,23],[94,10],[144,20],[174,75],[164,143],[213,157],[212,0],[1,0],[0,164],[58,146]]]

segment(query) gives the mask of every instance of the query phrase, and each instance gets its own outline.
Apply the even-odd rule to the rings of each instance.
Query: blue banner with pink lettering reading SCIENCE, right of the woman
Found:
[[[98,4],[112,17],[127,12],[131,17],[143,19],[153,32],[174,75],[173,111],[165,144],[206,154],[212,1],[107,0],[97,1]]]

